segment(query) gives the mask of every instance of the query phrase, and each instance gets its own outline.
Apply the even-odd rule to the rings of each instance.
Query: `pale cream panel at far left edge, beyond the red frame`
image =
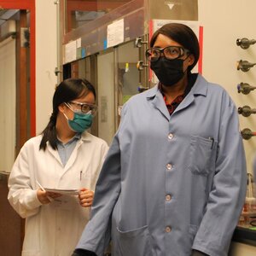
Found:
[[[0,43],[0,172],[10,172],[15,161],[15,49],[13,38]]]

